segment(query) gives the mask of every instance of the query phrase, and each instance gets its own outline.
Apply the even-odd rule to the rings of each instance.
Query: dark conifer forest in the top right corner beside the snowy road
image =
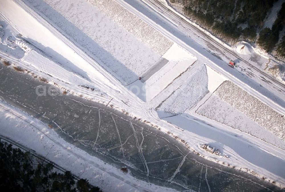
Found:
[[[285,24],[285,3],[278,12],[272,28],[263,28],[266,15],[277,0],[170,0],[184,7],[184,14],[227,42],[257,41],[260,47],[284,54],[284,38],[279,34]],[[257,37],[259,33],[259,37]]]

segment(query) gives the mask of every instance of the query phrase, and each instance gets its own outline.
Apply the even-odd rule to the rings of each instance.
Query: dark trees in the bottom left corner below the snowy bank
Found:
[[[87,179],[70,171],[58,173],[44,159],[0,140],[0,189],[17,192],[99,192]]]

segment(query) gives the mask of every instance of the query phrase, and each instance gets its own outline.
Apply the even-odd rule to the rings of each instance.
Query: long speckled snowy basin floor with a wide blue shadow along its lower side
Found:
[[[161,56],[84,0],[25,2],[124,85],[136,80]],[[149,33],[158,33],[154,31]],[[151,43],[165,48],[161,42]]]

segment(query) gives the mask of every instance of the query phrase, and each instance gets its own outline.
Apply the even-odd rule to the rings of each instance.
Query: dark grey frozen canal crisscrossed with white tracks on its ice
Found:
[[[284,191],[198,157],[168,134],[113,108],[60,96],[58,89],[56,96],[38,96],[38,86],[51,85],[0,64],[3,100],[52,125],[66,141],[91,155],[118,169],[127,166],[138,179],[179,191]]]

